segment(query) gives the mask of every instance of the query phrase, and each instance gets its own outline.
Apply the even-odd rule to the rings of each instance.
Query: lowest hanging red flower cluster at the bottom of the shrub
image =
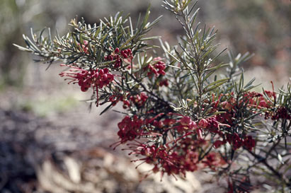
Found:
[[[205,146],[207,142],[203,139],[193,140],[189,137],[176,141],[176,144],[170,148],[168,143],[166,146],[153,144],[131,144],[130,154],[137,156],[145,156],[137,160],[143,160],[146,163],[154,165],[152,172],[161,171],[161,174],[178,175],[182,173],[186,175],[187,171],[195,171],[201,168],[212,168],[215,170],[217,166],[224,165],[224,160],[215,152],[210,152],[199,160],[198,148]],[[133,160],[133,161],[137,161]]]

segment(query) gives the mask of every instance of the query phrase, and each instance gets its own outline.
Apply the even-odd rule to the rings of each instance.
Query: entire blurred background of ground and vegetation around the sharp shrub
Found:
[[[90,93],[58,76],[59,65],[33,63],[33,56],[13,47],[25,45],[22,34],[50,27],[55,34],[67,32],[72,18],[87,23],[117,11],[132,20],[152,5],[150,19],[164,15],[151,35],[176,45],[180,25],[161,1],[141,0],[0,0],[0,192],[212,192],[211,176],[188,174],[187,180],[151,175],[151,168],[135,164],[120,150],[108,146],[117,141],[120,115],[83,103]],[[270,89],[290,82],[291,3],[289,0],[199,1],[198,21],[218,30],[219,49],[255,54],[244,64],[245,79]],[[202,25],[201,25],[202,26]],[[156,44],[159,44],[156,42]],[[223,59],[227,60],[227,52]],[[261,86],[258,91],[261,91]],[[215,192],[225,192],[224,184]]]

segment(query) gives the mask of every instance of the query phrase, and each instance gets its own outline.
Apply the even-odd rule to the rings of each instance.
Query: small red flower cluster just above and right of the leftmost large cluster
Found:
[[[115,60],[114,68],[119,68],[122,64],[122,59],[133,59],[132,50],[124,49],[120,52],[120,49],[117,47],[112,54],[106,56],[104,59],[105,61]]]

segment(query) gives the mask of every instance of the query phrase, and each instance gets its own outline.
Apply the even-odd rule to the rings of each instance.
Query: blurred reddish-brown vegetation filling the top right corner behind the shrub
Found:
[[[249,65],[287,67],[291,45],[290,1],[204,2],[205,21],[217,25],[220,38],[236,52],[256,54]]]

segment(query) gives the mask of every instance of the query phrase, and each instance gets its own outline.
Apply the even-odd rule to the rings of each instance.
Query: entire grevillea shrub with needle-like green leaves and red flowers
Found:
[[[229,62],[217,62],[224,50],[216,51],[214,28],[195,22],[195,2],[163,3],[185,32],[176,46],[147,43],[159,38],[146,36],[160,20],[148,22],[149,10],[135,26],[122,13],[93,25],[74,19],[62,37],[32,31],[31,39],[23,35],[26,47],[16,46],[41,62],[60,62],[59,76],[92,92],[103,112],[120,103],[125,116],[112,147],[152,165],[146,175],[203,170],[226,179],[228,192],[289,191],[290,83],[254,91],[241,69],[250,54],[229,52]]]

